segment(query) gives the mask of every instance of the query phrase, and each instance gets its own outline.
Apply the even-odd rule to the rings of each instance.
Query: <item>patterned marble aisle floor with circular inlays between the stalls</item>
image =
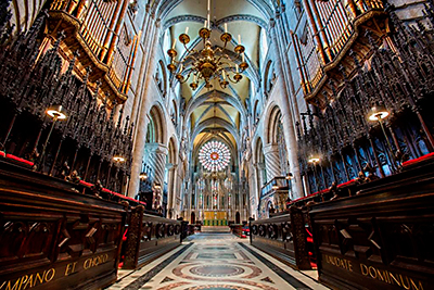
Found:
[[[328,289],[231,234],[196,234],[139,270],[119,270],[108,290]]]

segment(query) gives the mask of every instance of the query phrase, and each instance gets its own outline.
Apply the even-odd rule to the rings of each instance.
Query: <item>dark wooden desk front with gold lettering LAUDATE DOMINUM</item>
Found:
[[[419,164],[421,165],[421,164]],[[334,289],[432,289],[434,164],[312,205],[321,282]]]

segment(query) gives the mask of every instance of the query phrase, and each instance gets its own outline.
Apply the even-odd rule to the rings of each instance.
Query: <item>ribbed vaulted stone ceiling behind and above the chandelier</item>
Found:
[[[162,40],[164,51],[173,46],[175,39],[184,33],[187,27],[191,38],[188,47],[201,50],[203,42],[197,33],[207,17],[207,0],[173,1],[173,5],[166,4],[165,7],[166,10],[162,12],[164,15],[162,22],[164,25],[164,39]],[[180,93],[187,104],[184,121],[186,124],[190,121],[194,147],[202,146],[213,138],[225,140],[233,148],[238,147],[240,131],[246,124],[245,101],[252,89],[256,89],[259,85],[260,39],[261,34],[265,34],[268,28],[270,11],[270,4],[264,0],[212,0],[210,41],[213,47],[224,48],[220,35],[224,33],[226,23],[228,33],[232,35],[232,41],[228,43],[227,49],[233,51],[240,35],[250,68],[243,73],[243,79],[240,83],[230,83],[225,89],[219,86],[217,80],[213,80],[210,89],[200,83],[199,88],[194,91],[190,88],[191,79],[180,85]],[[186,49],[177,41],[176,50],[179,61],[184,55]],[[234,66],[234,63],[232,65]],[[176,83],[175,80],[173,84],[176,85]]]

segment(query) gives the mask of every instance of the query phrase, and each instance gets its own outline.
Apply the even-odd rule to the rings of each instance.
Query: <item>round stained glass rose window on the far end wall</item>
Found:
[[[209,172],[221,172],[229,164],[230,152],[222,142],[210,141],[199,151],[199,161]]]

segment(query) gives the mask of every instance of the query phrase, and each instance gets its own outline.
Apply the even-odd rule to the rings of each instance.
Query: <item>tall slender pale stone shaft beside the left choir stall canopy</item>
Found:
[[[155,22],[155,30],[154,30],[154,45],[152,50],[150,51],[151,61],[150,65],[146,71],[146,80],[144,85],[144,91],[140,96],[142,99],[142,104],[140,106],[140,113],[138,116],[138,124],[136,126],[137,128],[137,135],[135,137],[135,144],[133,144],[133,151],[132,151],[132,164],[131,164],[131,179],[129,184],[129,189],[128,189],[128,197],[133,198],[137,192],[139,191],[139,175],[142,166],[142,159],[143,159],[143,153],[144,153],[144,144],[145,144],[145,139],[146,139],[146,128],[148,128],[148,112],[151,109],[153,98],[151,98],[150,91],[151,91],[151,80],[152,80],[152,74],[155,71],[155,65],[156,65],[156,58],[155,53],[157,50],[157,37],[159,34],[159,21]]]

